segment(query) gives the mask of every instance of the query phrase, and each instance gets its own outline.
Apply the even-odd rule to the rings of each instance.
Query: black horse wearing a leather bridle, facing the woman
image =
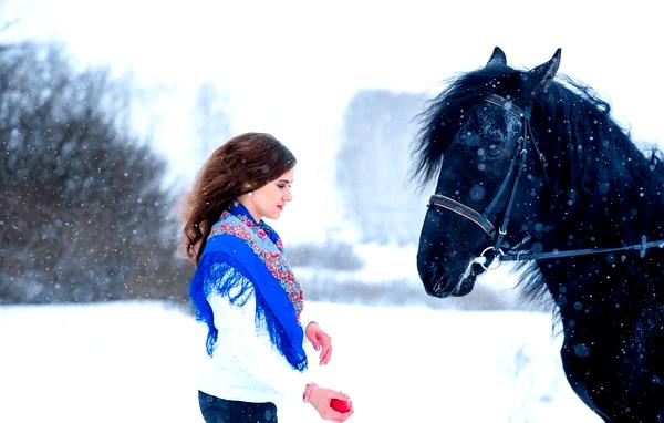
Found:
[[[496,48],[430,101],[415,177],[439,177],[419,277],[464,296],[491,262],[519,261],[527,293],[557,305],[574,392],[605,422],[664,422],[664,164],[559,64],[560,50],[516,70]]]

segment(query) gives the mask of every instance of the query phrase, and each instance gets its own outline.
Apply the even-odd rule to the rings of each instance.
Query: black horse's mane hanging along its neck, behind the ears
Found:
[[[562,76],[546,96],[533,102],[531,127],[536,140],[552,140],[544,153],[551,193],[548,208],[552,215],[567,216],[557,221],[556,230],[572,234],[579,223],[611,227],[618,218],[630,216],[625,226],[633,228],[633,239],[622,239],[616,230],[585,248],[626,246],[652,231],[649,228],[658,219],[652,204],[662,204],[664,187],[662,152],[639,149],[594,90]],[[549,298],[535,262],[517,264],[516,269],[521,270],[518,285],[525,299]]]

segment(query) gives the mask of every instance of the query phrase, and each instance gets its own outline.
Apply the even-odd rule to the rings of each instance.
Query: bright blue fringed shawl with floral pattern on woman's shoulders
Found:
[[[218,331],[207,297],[214,291],[242,306],[249,288],[253,288],[256,296],[257,324],[264,323],[270,341],[293,369],[307,369],[299,322],[302,289],[283,257],[281,239],[266,223],[253,220],[245,206],[236,202],[212,226],[189,285],[196,319],[208,327],[209,355]]]

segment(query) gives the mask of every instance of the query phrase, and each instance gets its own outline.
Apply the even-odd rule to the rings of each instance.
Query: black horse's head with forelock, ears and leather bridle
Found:
[[[531,71],[516,71],[496,48],[484,69],[434,99],[419,145],[423,174],[442,164],[417,254],[429,295],[470,292],[486,261],[523,236],[521,228],[501,227],[506,214],[527,225],[541,214],[529,193],[541,190],[546,162],[529,117],[559,64],[560,49]]]

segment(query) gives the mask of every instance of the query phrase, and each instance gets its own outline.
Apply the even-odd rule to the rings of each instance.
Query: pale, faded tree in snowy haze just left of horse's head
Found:
[[[363,241],[416,244],[426,203],[407,184],[411,143],[425,96],[359,91],[349,103],[336,157],[346,217]]]

